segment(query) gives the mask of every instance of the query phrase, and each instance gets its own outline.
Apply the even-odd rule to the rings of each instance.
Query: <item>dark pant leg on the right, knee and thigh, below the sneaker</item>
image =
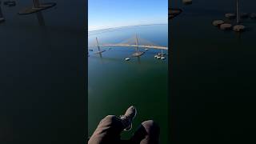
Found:
[[[159,126],[152,120],[142,122],[135,131],[134,136],[130,139],[133,144],[158,144],[159,143]]]

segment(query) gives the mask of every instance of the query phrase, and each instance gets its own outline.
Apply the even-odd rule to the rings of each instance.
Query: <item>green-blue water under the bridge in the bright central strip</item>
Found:
[[[93,46],[97,37],[99,44],[118,43],[134,34],[138,35],[138,39],[168,46],[166,24],[93,31],[89,32],[88,42],[89,46]],[[124,58],[133,54],[134,48],[102,47],[102,50],[106,50],[102,58],[94,54],[96,47],[93,50],[89,51],[88,58],[89,134],[106,115],[121,115],[129,106],[136,106],[138,115],[134,119],[133,129],[123,132],[122,138],[130,138],[141,122],[153,119],[161,128],[161,142],[167,143],[168,55],[166,60],[157,60],[154,55],[161,50],[150,49],[140,58],[130,57],[127,62]]]

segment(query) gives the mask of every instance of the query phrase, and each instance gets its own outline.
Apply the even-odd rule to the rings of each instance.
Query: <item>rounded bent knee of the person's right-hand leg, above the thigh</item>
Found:
[[[158,135],[160,133],[158,124],[153,120],[142,122],[142,126],[145,128],[147,134]]]

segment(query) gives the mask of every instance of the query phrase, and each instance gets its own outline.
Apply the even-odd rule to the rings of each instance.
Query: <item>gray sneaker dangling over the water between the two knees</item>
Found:
[[[137,110],[134,106],[130,106],[126,110],[126,114],[120,115],[120,118],[122,119],[122,124],[125,127],[125,131],[129,131],[132,128],[132,122],[137,114]]]

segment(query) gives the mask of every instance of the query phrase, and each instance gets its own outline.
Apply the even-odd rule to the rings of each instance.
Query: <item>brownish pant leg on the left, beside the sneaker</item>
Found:
[[[88,144],[110,144],[119,143],[120,134],[124,126],[120,118],[108,115],[99,122],[94,134],[90,137]]]

